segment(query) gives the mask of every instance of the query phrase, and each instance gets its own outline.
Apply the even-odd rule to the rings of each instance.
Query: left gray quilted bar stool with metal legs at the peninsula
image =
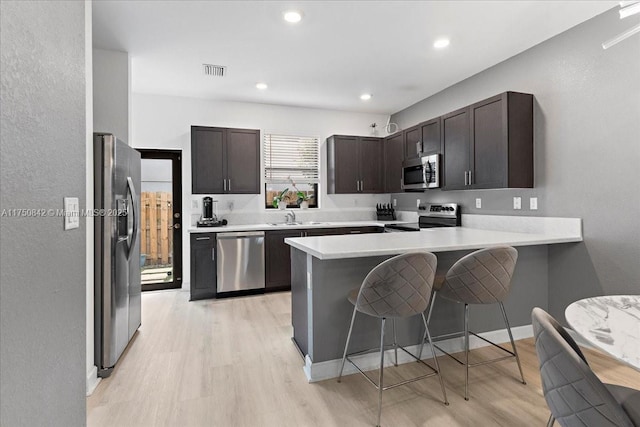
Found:
[[[442,376],[440,376],[440,367],[438,365],[438,359],[433,357],[435,368],[429,366],[422,360],[418,359],[415,355],[408,352],[405,348],[398,345],[396,340],[396,318],[405,318],[409,316],[421,315],[422,322],[425,326],[425,332],[422,337],[422,345],[424,346],[425,339],[428,340],[431,345],[431,335],[427,328],[427,321],[424,316],[424,311],[429,304],[429,296],[431,294],[431,288],[433,286],[433,278],[435,276],[437,259],[436,256],[428,252],[410,252],[396,257],[390,258],[379,265],[377,265],[369,274],[365,277],[362,285],[359,289],[354,289],[348,295],[348,300],[354,305],[353,315],[351,316],[351,325],[349,326],[349,333],[347,335],[347,342],[344,346],[344,355],[342,357],[342,365],[340,367],[340,374],[338,376],[338,382],[342,378],[342,372],[344,371],[345,361],[353,364],[360,373],[362,373],[371,384],[378,389],[378,422],[380,425],[380,417],[382,414],[382,391],[388,390],[399,385],[404,385],[409,382],[417,381],[422,378],[427,378],[433,375],[438,375],[440,379],[440,387],[442,388],[442,396],[444,403],[449,404],[447,401],[447,394],[444,389],[444,382]],[[351,341],[351,332],[353,331],[353,324],[356,319],[356,313],[363,313],[369,316],[377,317],[380,322],[380,369],[378,382],[369,378],[349,357],[352,354],[347,354],[349,348],[349,342]],[[398,365],[398,348],[403,350],[408,355],[412,356],[419,363],[429,367],[431,372],[426,375],[422,375],[410,380],[402,381],[393,385],[384,385],[383,372],[384,372],[384,326],[386,319],[391,319],[393,326],[393,344],[392,347],[395,352],[394,365]],[[431,349],[433,352],[433,348]],[[420,351],[422,353],[422,350]],[[362,354],[364,352],[358,352],[356,354]]]

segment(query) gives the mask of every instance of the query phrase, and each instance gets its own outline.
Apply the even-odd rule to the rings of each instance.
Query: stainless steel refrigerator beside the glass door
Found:
[[[140,327],[140,153],[94,134],[95,363],[108,377]]]

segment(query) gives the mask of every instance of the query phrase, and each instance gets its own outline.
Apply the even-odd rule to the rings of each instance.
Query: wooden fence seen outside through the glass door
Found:
[[[140,196],[140,253],[145,266],[173,263],[173,214],[171,193],[145,192]]]

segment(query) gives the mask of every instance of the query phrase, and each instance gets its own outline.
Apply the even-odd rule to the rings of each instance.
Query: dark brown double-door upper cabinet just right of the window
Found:
[[[384,192],[381,138],[333,135],[327,139],[329,194]]]

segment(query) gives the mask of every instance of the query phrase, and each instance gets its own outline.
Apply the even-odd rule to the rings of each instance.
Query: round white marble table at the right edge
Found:
[[[640,295],[585,298],[564,314],[590,344],[640,370]]]

